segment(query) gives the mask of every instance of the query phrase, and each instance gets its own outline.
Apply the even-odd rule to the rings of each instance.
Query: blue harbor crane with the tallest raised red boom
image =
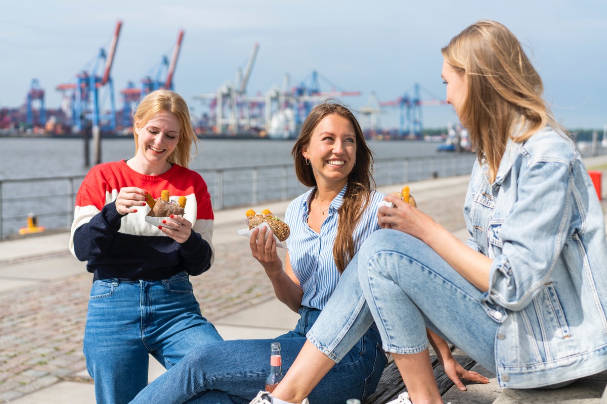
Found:
[[[75,83],[59,84],[56,89],[64,93],[70,93],[67,98],[70,99],[71,120],[76,131],[81,132],[86,127],[87,119],[93,127],[100,127],[102,122],[106,124],[104,128],[114,130],[116,127],[116,106],[114,101],[114,84],[110,72],[114,62],[114,55],[120,36],[122,21],[118,21],[112,36],[112,42],[108,53],[101,48],[98,53],[95,65],[92,70],[83,70],[76,75]],[[103,75],[98,75],[97,71],[102,64],[105,64]],[[106,88],[109,91],[110,111],[102,113],[100,108],[100,90]]]

